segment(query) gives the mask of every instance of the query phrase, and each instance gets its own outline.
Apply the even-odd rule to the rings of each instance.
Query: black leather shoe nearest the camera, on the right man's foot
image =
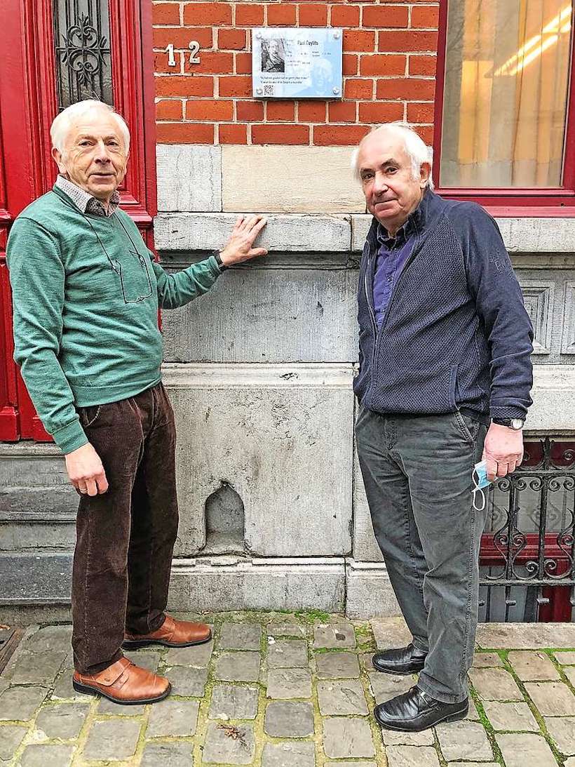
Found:
[[[397,695],[386,703],[380,703],[373,713],[380,725],[386,729],[421,732],[422,729],[435,727],[440,722],[465,719],[468,711],[467,698],[462,703],[442,703],[415,686],[407,693]]]

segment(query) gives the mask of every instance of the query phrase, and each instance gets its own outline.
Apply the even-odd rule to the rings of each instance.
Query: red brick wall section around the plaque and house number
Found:
[[[407,120],[432,143],[439,4],[154,0],[159,143],[355,144]],[[251,97],[251,28],[343,27],[343,100]],[[189,41],[201,46],[189,64]],[[168,66],[172,43],[176,67]]]

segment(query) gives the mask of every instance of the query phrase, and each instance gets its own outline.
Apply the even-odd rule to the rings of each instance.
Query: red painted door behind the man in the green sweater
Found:
[[[11,222],[51,189],[50,125],[98,97],[131,133],[122,207],[152,246],[156,213],[152,20],[149,0],[2,0],[0,24],[0,440],[50,439],[12,360],[5,247]]]

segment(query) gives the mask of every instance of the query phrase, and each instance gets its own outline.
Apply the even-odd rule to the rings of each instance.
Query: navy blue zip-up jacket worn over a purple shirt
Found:
[[[427,189],[378,330],[373,313],[377,221],[363,248],[358,290],[358,399],[376,413],[475,411],[524,418],[531,405],[533,329],[494,219],[475,202]]]

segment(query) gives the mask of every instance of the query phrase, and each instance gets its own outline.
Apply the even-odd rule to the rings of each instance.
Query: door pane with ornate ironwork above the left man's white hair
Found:
[[[113,106],[108,0],[54,0],[58,106],[85,98]]]

